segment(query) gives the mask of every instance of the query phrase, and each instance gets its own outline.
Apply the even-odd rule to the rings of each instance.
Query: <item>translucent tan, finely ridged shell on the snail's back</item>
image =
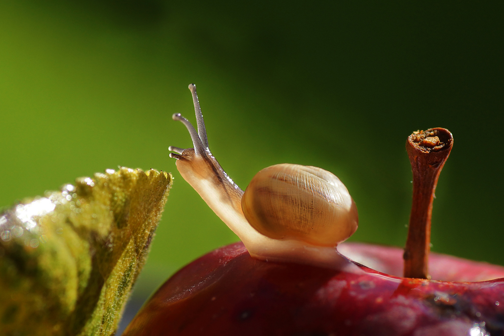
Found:
[[[345,185],[332,173],[299,164],[269,166],[241,199],[245,218],[273,239],[336,246],[357,229],[358,215]]]

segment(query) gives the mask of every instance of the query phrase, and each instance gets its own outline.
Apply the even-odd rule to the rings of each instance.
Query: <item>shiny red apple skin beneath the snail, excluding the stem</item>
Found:
[[[411,279],[398,276],[401,248],[338,250],[382,272],[264,262],[238,242],[168,279],[123,336],[504,334],[504,267],[432,253],[432,278],[443,281]]]

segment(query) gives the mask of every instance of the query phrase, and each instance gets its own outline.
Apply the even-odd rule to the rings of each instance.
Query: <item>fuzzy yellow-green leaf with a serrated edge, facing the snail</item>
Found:
[[[115,332],[172,177],[120,168],[0,214],[0,333]]]

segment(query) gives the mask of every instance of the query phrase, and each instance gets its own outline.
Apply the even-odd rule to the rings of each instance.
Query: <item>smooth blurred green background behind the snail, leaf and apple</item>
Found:
[[[446,127],[432,249],[504,265],[504,3],[0,2],[0,206],[117,165],[175,177],[132,302],[237,240],[182,180],[198,86],[210,148],[245,189],[263,167],[320,166],[359,210],[352,240],[402,246],[404,149]],[[136,301],[135,301],[136,300]]]

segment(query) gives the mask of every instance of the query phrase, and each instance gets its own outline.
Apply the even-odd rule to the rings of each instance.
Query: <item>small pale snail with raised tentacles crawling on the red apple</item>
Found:
[[[345,185],[314,166],[275,164],[261,170],[243,192],[212,155],[196,86],[189,85],[197,130],[175,113],[194,148],[170,146],[177,170],[242,240],[251,257],[332,269],[352,268],[338,243],[357,229],[357,207]]]

